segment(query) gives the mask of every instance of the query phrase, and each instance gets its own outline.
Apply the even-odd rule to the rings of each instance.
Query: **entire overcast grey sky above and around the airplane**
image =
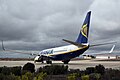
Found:
[[[42,50],[75,41],[92,11],[89,43],[116,41],[120,50],[120,0],[0,0],[0,40],[7,49]],[[112,45],[87,52],[109,51]]]

